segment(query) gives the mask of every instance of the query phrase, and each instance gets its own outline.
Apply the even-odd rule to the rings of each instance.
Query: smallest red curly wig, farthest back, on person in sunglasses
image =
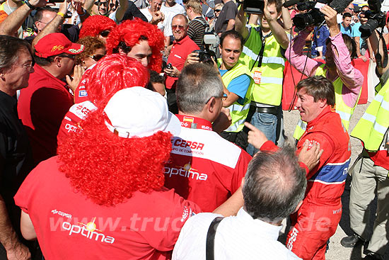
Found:
[[[103,30],[111,31],[116,27],[115,21],[107,16],[89,16],[82,23],[79,38],[86,36],[97,37]]]

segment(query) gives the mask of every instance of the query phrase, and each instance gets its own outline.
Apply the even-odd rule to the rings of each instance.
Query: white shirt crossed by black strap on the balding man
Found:
[[[209,225],[214,213],[199,213],[185,222],[173,250],[173,260],[205,260]],[[215,236],[215,260],[299,259],[277,241],[282,226],[253,219],[240,208],[236,216],[225,217]]]

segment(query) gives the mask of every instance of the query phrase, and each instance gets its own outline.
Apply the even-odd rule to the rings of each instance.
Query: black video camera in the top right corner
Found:
[[[361,12],[368,21],[359,27],[361,38],[368,38],[376,28],[383,28],[386,23],[385,13],[381,12],[380,0],[368,0],[368,7],[370,10]]]

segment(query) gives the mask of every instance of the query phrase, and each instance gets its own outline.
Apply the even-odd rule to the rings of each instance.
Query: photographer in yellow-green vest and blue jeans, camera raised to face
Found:
[[[250,123],[273,142],[277,139],[277,122],[282,113],[279,106],[284,78],[284,51],[289,44],[284,28],[278,23],[282,8],[281,1],[265,0],[264,10],[259,15],[260,26],[246,27],[243,8],[236,16],[235,23],[235,30],[245,40],[239,60],[248,66],[255,82],[248,117],[253,114]],[[282,15],[289,16],[289,12],[282,12]],[[283,17],[283,20],[287,21],[287,18]],[[255,152],[257,149],[249,145],[248,153]]]

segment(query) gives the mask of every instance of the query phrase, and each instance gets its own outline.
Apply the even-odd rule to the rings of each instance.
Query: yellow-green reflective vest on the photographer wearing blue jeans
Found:
[[[252,79],[255,81],[252,90],[252,101],[272,106],[279,106],[282,97],[282,81],[284,79],[285,58],[281,55],[281,46],[274,35],[261,39],[259,26],[250,28],[250,35],[243,45],[240,62],[251,69]],[[260,58],[262,45],[265,44],[262,66],[252,67]]]

